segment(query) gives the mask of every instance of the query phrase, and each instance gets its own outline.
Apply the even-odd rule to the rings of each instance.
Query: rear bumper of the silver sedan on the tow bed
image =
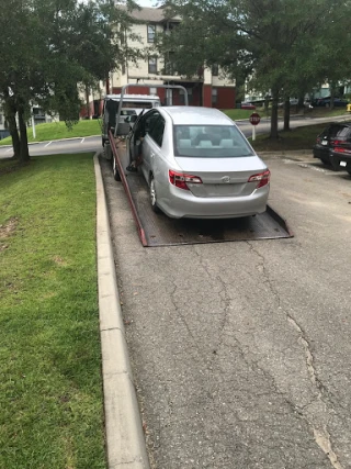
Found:
[[[158,200],[160,209],[173,219],[235,219],[263,213],[269,185],[250,196],[200,198],[192,192],[171,187],[170,197]]]

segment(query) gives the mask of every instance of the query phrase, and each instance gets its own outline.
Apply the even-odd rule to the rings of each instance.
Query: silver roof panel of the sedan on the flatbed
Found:
[[[172,105],[158,108],[158,110],[167,112],[174,125],[234,125],[231,119],[218,109]]]

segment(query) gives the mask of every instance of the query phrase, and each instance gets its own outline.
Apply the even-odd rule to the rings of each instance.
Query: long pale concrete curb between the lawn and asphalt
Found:
[[[97,246],[102,379],[109,469],[149,469],[125,339],[101,168],[97,180]]]

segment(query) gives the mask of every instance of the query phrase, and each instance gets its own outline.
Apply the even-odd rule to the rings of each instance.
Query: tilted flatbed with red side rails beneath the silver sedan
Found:
[[[112,157],[128,198],[143,246],[174,246],[203,243],[274,239],[292,237],[287,223],[271,206],[267,212],[246,219],[191,220],[170,219],[155,213],[141,172],[125,174],[128,164],[125,144],[110,132]],[[117,143],[116,143],[117,142]]]

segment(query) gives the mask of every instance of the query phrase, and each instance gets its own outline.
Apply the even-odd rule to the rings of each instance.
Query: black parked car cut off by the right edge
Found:
[[[314,157],[351,175],[351,122],[329,124],[317,137]]]

